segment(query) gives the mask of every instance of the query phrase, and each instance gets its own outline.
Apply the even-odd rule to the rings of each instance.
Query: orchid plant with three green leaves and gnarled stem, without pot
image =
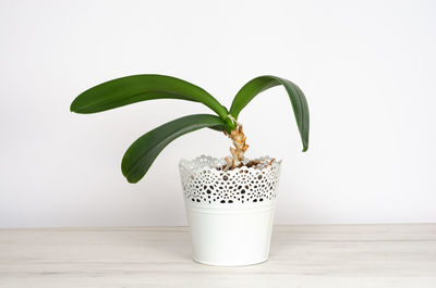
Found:
[[[97,113],[140,101],[153,99],[180,99],[201,102],[210,108],[213,114],[194,114],[168,122],[140,137],[124,153],[121,170],[130,183],[137,183],[147,173],[160,151],[175,138],[208,127],[223,132],[233,146],[226,158],[223,170],[233,170],[244,164],[244,153],[249,146],[238,116],[242,109],[259,92],[282,85],[289,96],[296,125],[303,143],[303,152],[308,146],[308,108],[302,90],[292,82],[276,76],[259,76],[246,83],[235,95],[228,110],[210,93],[185,80],[155,74],[133,75],[97,85],[71,103],[72,112]]]

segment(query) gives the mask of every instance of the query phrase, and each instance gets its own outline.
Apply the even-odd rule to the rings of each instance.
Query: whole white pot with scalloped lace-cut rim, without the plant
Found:
[[[269,158],[263,158],[269,161]],[[192,256],[208,265],[252,265],[268,259],[281,162],[218,171],[223,159],[181,160]]]

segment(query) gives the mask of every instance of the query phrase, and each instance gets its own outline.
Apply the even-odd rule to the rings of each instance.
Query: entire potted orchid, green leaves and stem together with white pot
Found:
[[[179,164],[193,243],[193,259],[211,265],[250,265],[267,260],[281,161],[249,160],[241,110],[259,92],[282,85],[289,96],[303,142],[308,145],[308,109],[301,89],[290,80],[261,76],[235,95],[230,110],[204,89],[170,76],[134,75],[97,85],[80,96],[70,110],[96,113],[153,99],[201,102],[217,115],[194,114],[166,123],[140,137],[125,152],[121,170],[137,183],[160,151],[175,138],[204,127],[223,133],[233,146],[223,159],[199,156]]]

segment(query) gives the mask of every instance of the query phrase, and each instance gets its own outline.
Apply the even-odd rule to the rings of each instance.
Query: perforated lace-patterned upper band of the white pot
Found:
[[[269,163],[271,158],[257,160]],[[216,168],[225,164],[223,159],[206,155],[181,160],[179,168],[186,201],[204,206],[231,206],[266,204],[275,200],[281,161],[227,172]]]

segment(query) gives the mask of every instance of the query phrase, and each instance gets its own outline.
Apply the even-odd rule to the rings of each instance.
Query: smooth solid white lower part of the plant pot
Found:
[[[245,266],[269,254],[275,202],[254,206],[205,209],[186,203],[196,262],[214,266]]]

